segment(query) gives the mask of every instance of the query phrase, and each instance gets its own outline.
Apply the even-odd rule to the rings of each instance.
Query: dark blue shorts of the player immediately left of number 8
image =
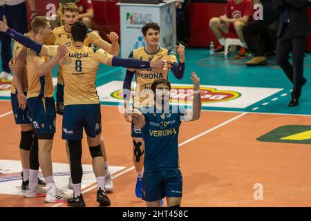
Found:
[[[27,105],[35,133],[55,133],[56,111],[54,98],[30,97],[27,99]]]

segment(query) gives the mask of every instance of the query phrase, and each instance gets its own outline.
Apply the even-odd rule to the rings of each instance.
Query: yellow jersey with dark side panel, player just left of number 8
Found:
[[[52,74],[48,73],[45,76],[39,77],[35,61],[48,61],[48,57],[39,55],[34,50],[28,48],[26,57],[26,69],[28,79],[27,98],[30,97],[53,97],[54,86],[52,81]]]

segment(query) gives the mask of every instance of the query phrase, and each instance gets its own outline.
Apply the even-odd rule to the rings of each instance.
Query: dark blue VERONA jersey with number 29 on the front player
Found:
[[[144,171],[179,168],[178,134],[183,115],[178,106],[159,111],[154,106],[142,108],[146,124],[142,128],[144,138]]]

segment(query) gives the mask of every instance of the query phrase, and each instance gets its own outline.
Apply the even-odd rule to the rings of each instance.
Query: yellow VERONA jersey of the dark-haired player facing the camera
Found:
[[[162,57],[162,60],[177,62],[176,55],[171,50],[165,48],[159,48],[154,54],[146,52],[144,47],[135,49],[131,52],[129,57],[134,59],[140,59],[142,61],[155,61]],[[151,91],[151,84],[155,79],[164,78],[167,79],[168,70],[153,70],[149,69],[136,69],[135,70],[135,97],[133,106],[141,108],[143,106],[151,106],[154,103],[153,93]]]

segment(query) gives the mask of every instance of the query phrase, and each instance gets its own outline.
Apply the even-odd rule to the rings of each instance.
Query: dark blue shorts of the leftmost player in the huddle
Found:
[[[27,93],[24,93],[27,96]],[[19,108],[19,102],[17,99],[17,93],[11,93],[11,104],[12,104],[12,111],[15,118],[15,124],[31,124],[30,122],[30,113],[28,111],[28,106],[26,106],[25,110],[21,110]]]

